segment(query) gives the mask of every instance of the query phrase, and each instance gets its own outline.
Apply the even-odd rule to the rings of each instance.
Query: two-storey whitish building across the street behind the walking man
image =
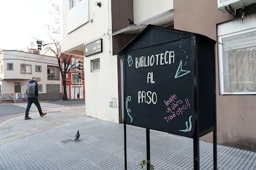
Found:
[[[0,53],[0,93],[26,93],[29,80],[39,78],[40,100],[59,100],[61,95],[60,70],[54,56],[17,50]]]

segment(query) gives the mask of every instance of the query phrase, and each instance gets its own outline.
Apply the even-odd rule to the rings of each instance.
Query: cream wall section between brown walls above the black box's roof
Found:
[[[172,0],[133,0],[133,21],[137,24],[170,9],[173,9]]]

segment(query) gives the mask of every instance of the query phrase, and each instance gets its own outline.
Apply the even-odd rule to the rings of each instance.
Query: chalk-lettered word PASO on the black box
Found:
[[[156,92],[145,92],[143,90],[138,91],[138,104],[157,104],[157,93]]]

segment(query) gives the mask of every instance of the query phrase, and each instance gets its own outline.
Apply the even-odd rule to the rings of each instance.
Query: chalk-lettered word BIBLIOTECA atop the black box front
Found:
[[[166,51],[148,56],[140,56],[135,58],[135,68],[152,67],[154,65],[172,64],[175,61],[174,51]]]

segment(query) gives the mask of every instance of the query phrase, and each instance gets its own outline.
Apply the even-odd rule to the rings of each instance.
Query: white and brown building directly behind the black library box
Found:
[[[218,143],[256,150],[254,3],[254,0],[249,3],[247,0],[62,1],[62,52],[84,55],[86,114],[122,122],[123,64],[118,51],[148,24],[199,33],[218,42],[215,62]],[[210,138],[207,135],[203,140],[211,141]]]

